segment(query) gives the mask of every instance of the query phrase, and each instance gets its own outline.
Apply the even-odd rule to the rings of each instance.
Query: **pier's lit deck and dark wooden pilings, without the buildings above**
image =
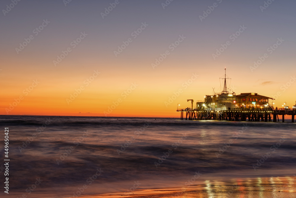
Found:
[[[227,120],[227,121],[252,121],[252,122],[279,122],[279,116],[282,122],[285,122],[285,115],[292,116],[292,122],[295,119],[295,109],[293,110],[220,110],[206,109],[177,109],[181,112],[181,120]]]

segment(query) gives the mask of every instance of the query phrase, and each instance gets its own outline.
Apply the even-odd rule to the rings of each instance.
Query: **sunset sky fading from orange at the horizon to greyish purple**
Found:
[[[0,114],[178,117],[178,103],[186,108],[187,99],[219,91],[225,67],[231,92],[292,107],[295,6],[1,1]]]

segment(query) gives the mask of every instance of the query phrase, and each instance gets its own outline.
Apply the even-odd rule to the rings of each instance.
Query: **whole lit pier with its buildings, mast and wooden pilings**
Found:
[[[227,80],[230,78],[225,74],[220,78],[223,83],[220,84],[221,92],[215,92],[213,88],[212,95],[205,95],[204,100],[198,100],[193,107],[179,109],[181,120],[227,120],[227,121],[252,121],[252,122],[285,122],[285,116],[292,116],[292,122],[295,120],[296,101],[293,108],[289,108],[287,103],[283,103],[284,108],[274,108],[274,98],[260,95],[256,92],[247,92],[237,95],[235,92],[229,92]],[[271,104],[269,104],[271,101]],[[185,113],[185,115],[184,115]]]

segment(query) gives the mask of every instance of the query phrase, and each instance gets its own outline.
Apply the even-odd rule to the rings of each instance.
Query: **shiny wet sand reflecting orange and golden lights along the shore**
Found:
[[[294,198],[296,197],[296,177],[269,177],[269,178],[244,178],[231,179],[229,181],[203,181],[203,184],[193,184],[190,186],[171,187],[166,189],[135,189],[129,193],[124,191],[97,194],[99,186],[87,189],[80,198],[251,198],[251,197],[272,197],[272,198]],[[110,188],[111,189],[111,188]],[[110,190],[109,189],[109,190]],[[102,190],[102,189],[101,189]],[[50,193],[35,192],[30,197],[73,197],[73,195],[59,195]],[[10,194],[11,197],[13,194]],[[8,197],[8,196],[4,196]]]

